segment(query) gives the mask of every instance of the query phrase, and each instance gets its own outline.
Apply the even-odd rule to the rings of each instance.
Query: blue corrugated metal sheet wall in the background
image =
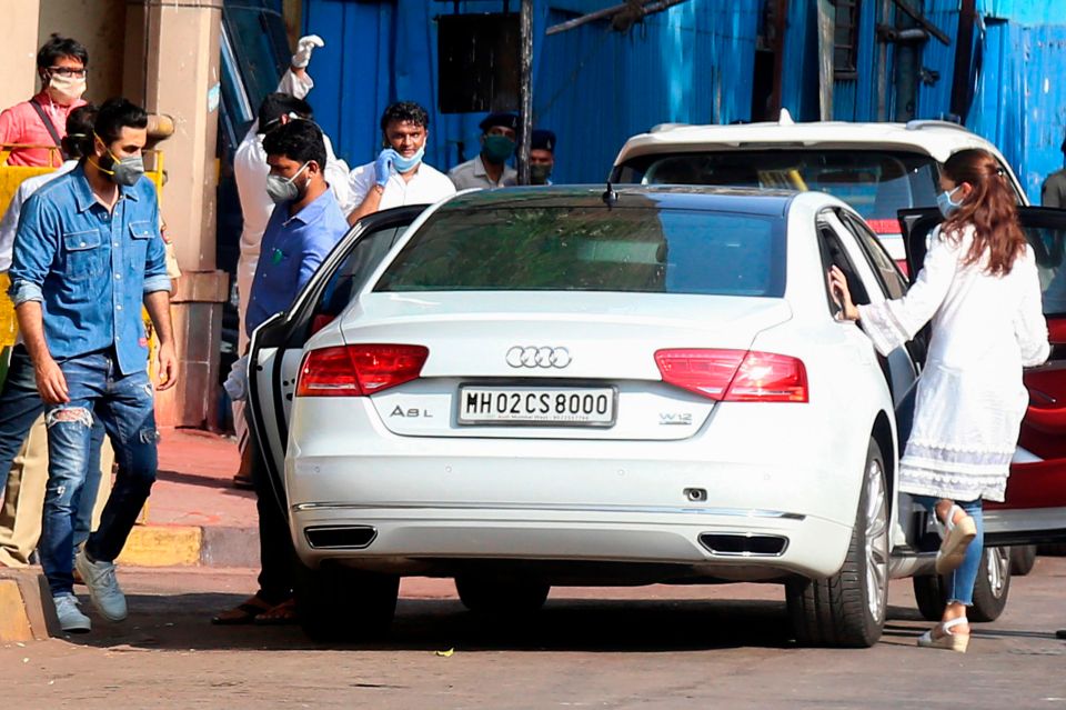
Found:
[[[628,32],[604,21],[545,37],[544,30],[621,0],[534,0],[534,123],[559,136],[555,177],[599,181],[633,133],[661,122],[726,123],[751,116],[755,39],[764,0],[688,0],[646,18]],[[917,0],[915,0],[917,2]],[[818,117],[816,0],[791,0],[782,103],[798,120]],[[876,120],[879,2],[861,3],[858,76],[834,84],[834,117]],[[959,0],[924,0],[925,16],[951,39],[929,39],[922,67],[938,73],[921,83],[915,114],[951,110]],[[520,0],[512,0],[516,11]],[[431,0],[305,0],[304,29],[321,34],[310,100],[319,121],[353,164],[380,148],[378,119],[392,101],[431,111],[429,160],[447,169],[479,148],[479,116],[436,110],[438,14],[455,3]],[[460,12],[499,12],[502,0],[464,0]],[[1038,194],[1043,174],[1062,163],[1066,88],[1066,0],[978,0],[973,107],[967,126],[992,139]],[[894,51],[887,48],[887,117],[894,116]],[[976,59],[975,59],[976,61]],[[969,80],[969,79],[963,79]]]

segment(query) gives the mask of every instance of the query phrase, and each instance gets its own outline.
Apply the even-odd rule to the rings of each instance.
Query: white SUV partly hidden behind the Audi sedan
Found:
[[[897,211],[935,207],[937,163],[968,148],[995,156],[1028,203],[996,147],[956,123],[795,123],[787,110],[776,122],[657,126],[625,142],[611,181],[822,190],[855,208],[906,270]]]

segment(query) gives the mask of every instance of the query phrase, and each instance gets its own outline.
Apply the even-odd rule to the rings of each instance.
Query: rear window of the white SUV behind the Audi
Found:
[[[871,150],[734,150],[635,158],[619,182],[713,184],[821,190],[867,220],[891,219],[912,207],[935,207],[936,161],[905,152]]]

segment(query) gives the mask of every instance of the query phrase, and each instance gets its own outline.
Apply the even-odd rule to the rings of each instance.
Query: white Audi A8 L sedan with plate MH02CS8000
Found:
[[[315,638],[402,576],[473,611],[552,586],[785,584],[804,643],[869,646],[928,571],[895,468],[921,343],[835,319],[906,282],[816,192],[466,192],[362,220],[253,339],[252,410]],[[933,548],[935,549],[935,547]]]

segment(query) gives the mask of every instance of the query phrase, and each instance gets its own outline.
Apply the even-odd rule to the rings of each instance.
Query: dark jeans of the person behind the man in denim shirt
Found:
[[[11,351],[8,377],[0,390],[0,493],[8,482],[11,462],[18,456],[27,434],[37,418],[44,413],[44,402],[37,391],[33,362],[22,346]],[[88,470],[82,493],[78,498],[74,518],[74,547],[89,538],[92,529],[92,506],[100,488],[100,446],[103,443],[103,424],[93,419],[92,440],[89,447]]]

